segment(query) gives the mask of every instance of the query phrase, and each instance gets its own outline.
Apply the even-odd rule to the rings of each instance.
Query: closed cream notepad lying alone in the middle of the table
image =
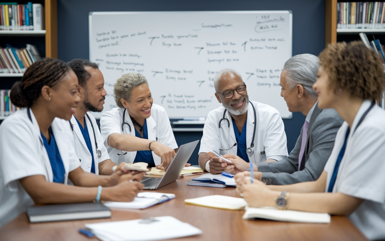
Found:
[[[214,207],[220,209],[229,210],[243,210],[247,205],[246,201],[240,197],[229,197],[224,195],[210,195],[204,197],[197,197],[191,199],[185,199],[186,204]]]

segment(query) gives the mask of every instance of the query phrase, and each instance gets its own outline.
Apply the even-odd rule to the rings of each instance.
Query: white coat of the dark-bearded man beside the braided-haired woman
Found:
[[[94,164],[95,164],[95,174],[99,174],[99,163],[103,162],[104,160],[110,159],[110,156],[108,155],[107,149],[104,146],[104,140],[102,137],[102,134],[99,131],[99,127],[96,123],[95,117],[87,112],[88,116],[90,117],[92,121],[92,125],[94,125],[95,130],[95,137],[97,142],[98,150],[102,152],[102,156],[100,158],[97,157],[96,148],[95,148],[95,139],[94,139],[94,131],[92,130],[92,125],[90,121],[88,120],[87,116],[84,116],[85,119],[85,125],[87,125],[88,135],[90,137],[91,141],[91,147],[92,147],[92,155],[94,155]],[[76,121],[76,118],[74,115],[72,115],[71,123],[74,127],[74,132],[71,133],[71,135],[74,135],[75,140],[75,150],[77,152],[77,155],[80,159],[80,166],[85,172],[91,172],[91,165],[92,165],[92,157],[91,153],[88,150],[87,144],[85,143],[84,137],[82,135],[82,131],[80,128],[83,128],[83,126],[79,126],[79,124]],[[72,132],[72,130],[70,129]]]

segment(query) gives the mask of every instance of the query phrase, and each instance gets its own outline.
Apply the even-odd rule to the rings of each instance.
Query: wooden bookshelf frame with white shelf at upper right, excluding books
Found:
[[[337,2],[350,1],[326,0],[325,47],[336,42],[360,40],[358,34],[361,32],[366,33],[370,40],[372,40],[370,37],[374,35],[380,39],[380,42],[385,42],[385,29],[337,29]]]

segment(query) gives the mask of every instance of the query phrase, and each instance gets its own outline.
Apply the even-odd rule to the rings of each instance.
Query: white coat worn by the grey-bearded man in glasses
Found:
[[[285,126],[281,119],[281,115],[275,108],[252,101],[256,110],[256,123],[254,121],[253,106],[249,103],[247,110],[246,123],[246,147],[250,147],[253,139],[254,123],[256,126],[256,133],[254,137],[254,152],[248,154],[249,161],[258,163],[264,162],[266,157],[271,156],[288,156]],[[199,153],[210,152],[211,150],[219,152],[221,155],[232,153],[237,154],[237,146],[227,151],[222,149],[229,149],[236,143],[233,122],[229,111],[226,111],[225,118],[229,120],[230,127],[226,120],[221,121],[221,128],[219,128],[219,121],[223,118],[224,107],[221,106],[213,111],[210,111],[203,128],[203,137],[201,140],[201,147]],[[238,130],[237,130],[238,131]],[[222,142],[219,138],[221,136]]]

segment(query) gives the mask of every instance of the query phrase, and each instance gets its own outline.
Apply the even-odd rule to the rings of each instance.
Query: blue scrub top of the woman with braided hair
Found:
[[[40,131],[42,135],[45,150],[47,150],[49,162],[51,163],[52,172],[54,174],[54,182],[64,183],[65,169],[62,157],[60,157],[59,149],[57,148],[55,137],[52,135],[52,130],[49,128],[51,141],[48,143],[47,138]]]

